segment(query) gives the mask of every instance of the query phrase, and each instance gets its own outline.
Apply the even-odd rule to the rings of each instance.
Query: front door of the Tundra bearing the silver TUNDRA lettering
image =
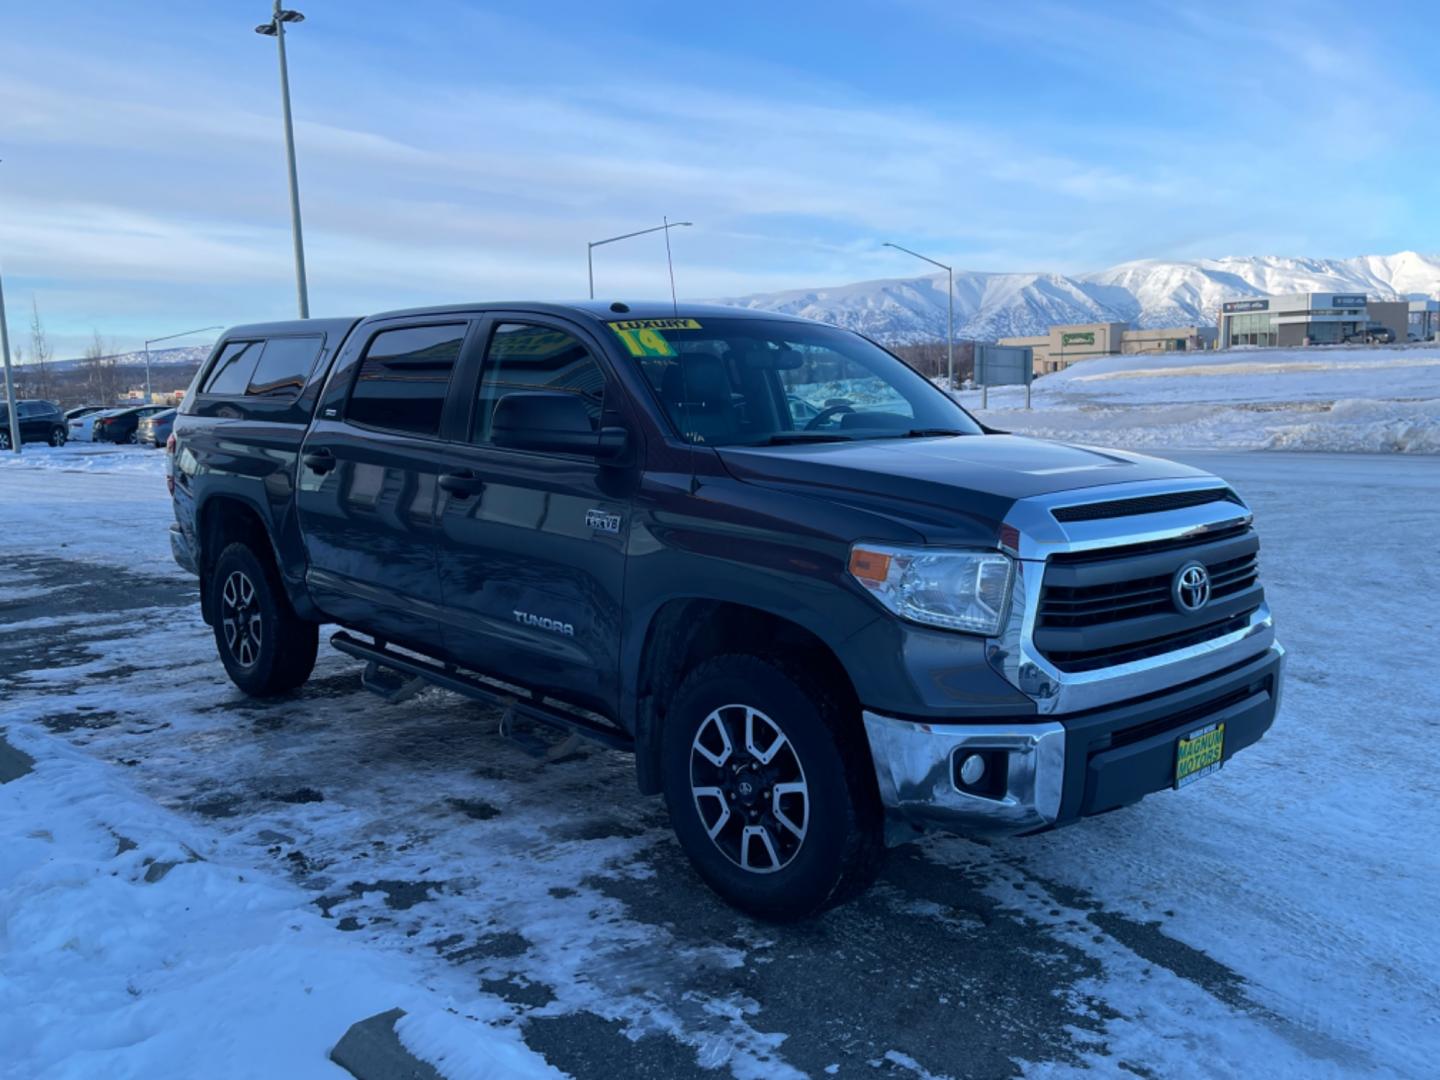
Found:
[[[505,393],[582,399],[596,428],[618,392],[582,333],[559,320],[495,317],[475,380],[468,439],[439,492],[446,645],[461,664],[613,708],[621,645],[629,474],[593,456],[491,441]]]

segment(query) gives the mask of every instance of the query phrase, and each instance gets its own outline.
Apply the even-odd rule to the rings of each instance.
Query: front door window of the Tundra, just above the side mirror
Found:
[[[491,441],[495,403],[507,393],[559,390],[585,403],[592,426],[605,405],[605,373],[590,351],[563,330],[501,323],[490,338],[475,402],[475,442]]]

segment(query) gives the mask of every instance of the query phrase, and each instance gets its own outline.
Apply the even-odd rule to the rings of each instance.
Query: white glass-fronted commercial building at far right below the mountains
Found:
[[[1230,300],[1220,310],[1220,347],[1326,346],[1362,334],[1371,323],[1397,341],[1410,333],[1410,301],[1369,300],[1358,292],[1299,292]]]

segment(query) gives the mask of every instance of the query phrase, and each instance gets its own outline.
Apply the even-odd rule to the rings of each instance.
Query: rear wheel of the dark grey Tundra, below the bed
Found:
[[[215,645],[230,681],[251,697],[301,685],[315,667],[320,628],[295,613],[268,553],[229,544],[210,577]]]

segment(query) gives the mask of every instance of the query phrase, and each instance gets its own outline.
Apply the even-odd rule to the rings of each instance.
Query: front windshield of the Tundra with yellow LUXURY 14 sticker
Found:
[[[688,442],[765,446],[981,433],[927,379],[844,330],[680,317],[609,327]]]

